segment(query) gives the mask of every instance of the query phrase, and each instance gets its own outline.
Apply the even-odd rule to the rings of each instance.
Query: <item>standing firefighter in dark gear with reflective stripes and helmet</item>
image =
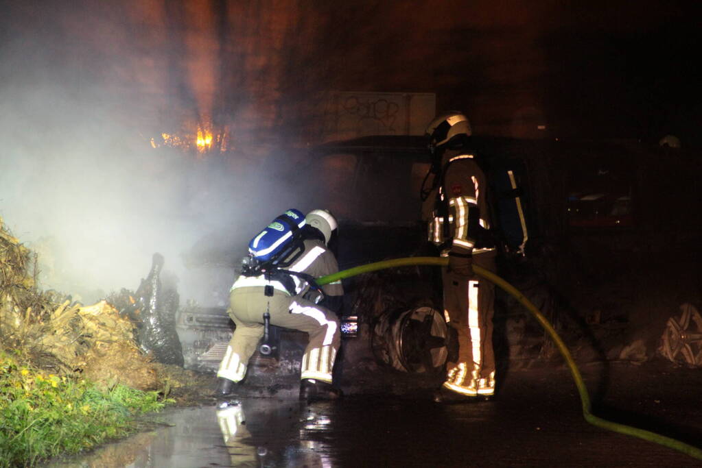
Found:
[[[458,111],[442,113],[426,130],[432,151],[431,191],[425,193],[423,219],[429,240],[449,258],[442,270],[444,317],[458,333],[458,360],[447,362],[447,376],[436,401],[491,399],[495,392],[492,345],[494,285],[472,273],[472,264],[495,271],[487,181],[468,150],[471,128]]]

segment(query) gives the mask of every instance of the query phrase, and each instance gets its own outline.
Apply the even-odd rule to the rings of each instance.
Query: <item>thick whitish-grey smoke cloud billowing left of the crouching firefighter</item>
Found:
[[[194,80],[187,56],[184,67],[171,60],[188,48],[168,40],[178,34],[165,3],[52,3],[10,7],[4,20],[0,216],[39,254],[44,288],[86,302],[136,289],[160,252],[182,302],[223,305],[248,240],[285,209],[310,207],[294,205],[302,198],[285,181],[271,190],[270,170],[250,159],[152,147],[201,118],[216,83]],[[215,58],[194,63],[213,73]],[[193,102],[202,92],[209,100]]]

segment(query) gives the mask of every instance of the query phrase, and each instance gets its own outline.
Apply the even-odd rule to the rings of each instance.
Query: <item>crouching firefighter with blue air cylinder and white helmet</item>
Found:
[[[241,275],[230,291],[229,314],[236,325],[217,372],[217,396],[234,392],[246,375],[249,359],[264,334],[264,315],[270,324],[309,333],[303,355],[300,399],[334,399],[331,373],[340,345],[341,282],[317,286],[315,277],[338,271],[327,247],[336,240],[336,219],[314,209],[303,216],[289,209],[251,242]]]

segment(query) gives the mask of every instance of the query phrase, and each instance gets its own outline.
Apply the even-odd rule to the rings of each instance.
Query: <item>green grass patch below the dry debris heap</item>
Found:
[[[135,415],[159,411],[157,392],[102,389],[18,364],[0,351],[0,467],[32,467],[93,448],[136,429]]]

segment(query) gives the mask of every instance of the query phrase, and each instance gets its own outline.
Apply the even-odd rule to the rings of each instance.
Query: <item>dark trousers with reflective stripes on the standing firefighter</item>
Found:
[[[472,261],[486,270],[496,270],[494,251],[475,254]],[[444,387],[468,396],[490,396],[495,391],[494,284],[446,268],[442,277],[444,316],[458,333],[458,362],[447,363]]]

